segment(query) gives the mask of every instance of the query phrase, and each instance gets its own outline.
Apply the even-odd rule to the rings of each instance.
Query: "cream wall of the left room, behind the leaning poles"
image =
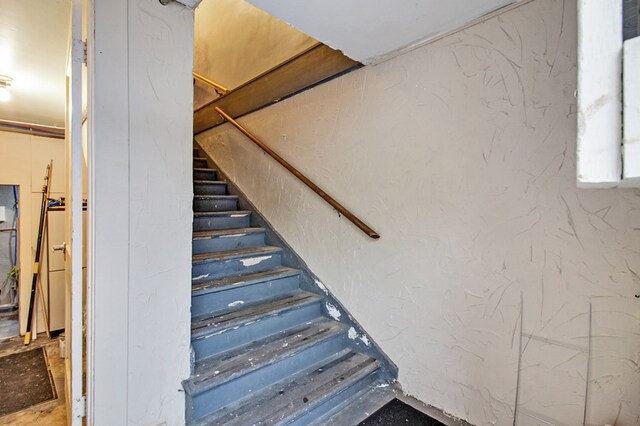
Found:
[[[33,259],[38,239],[40,206],[42,203],[42,185],[47,164],[53,160],[51,198],[64,195],[66,182],[65,144],[63,139],[45,138],[28,134],[0,131],[0,184],[20,185],[19,207],[20,224],[18,229],[18,257],[20,267],[20,333],[24,334],[27,325],[29,295],[33,276]],[[46,247],[45,247],[46,250]],[[46,257],[46,255],[45,255]],[[46,264],[43,265],[41,278],[45,281]],[[0,279],[4,280],[4,276]],[[42,319],[39,296],[36,299],[38,314]],[[44,331],[40,321],[37,331]]]

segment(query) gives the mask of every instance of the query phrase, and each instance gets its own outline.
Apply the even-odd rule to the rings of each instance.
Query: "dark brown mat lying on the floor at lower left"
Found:
[[[44,348],[0,357],[0,416],[56,398]]]

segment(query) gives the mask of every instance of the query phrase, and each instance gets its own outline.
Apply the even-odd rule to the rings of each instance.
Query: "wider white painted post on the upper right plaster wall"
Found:
[[[622,179],[622,0],[578,0],[577,184]]]

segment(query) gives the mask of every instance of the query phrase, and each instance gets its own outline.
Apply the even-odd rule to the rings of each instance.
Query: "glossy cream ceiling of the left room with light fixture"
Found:
[[[64,127],[70,0],[2,0],[0,75],[13,78],[0,120]]]

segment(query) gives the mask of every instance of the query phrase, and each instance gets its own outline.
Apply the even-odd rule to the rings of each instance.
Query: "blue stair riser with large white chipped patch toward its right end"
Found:
[[[264,253],[228,260],[194,263],[191,283],[197,284],[236,274],[266,271],[282,264],[282,252]]]

